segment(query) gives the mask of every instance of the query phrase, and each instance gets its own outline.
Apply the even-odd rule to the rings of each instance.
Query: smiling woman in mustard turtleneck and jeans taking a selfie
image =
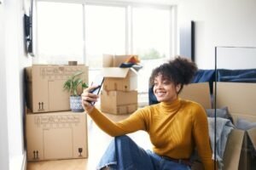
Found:
[[[189,157],[195,147],[205,169],[213,169],[205,110],[193,101],[178,97],[195,71],[195,63],[179,56],[155,68],[150,84],[160,103],[138,109],[121,122],[112,122],[90,105],[88,101],[96,101],[98,96],[88,92],[96,87],[84,90],[84,110],[104,132],[115,137],[98,169],[190,169]],[[143,150],[125,135],[138,130],[149,134],[153,151]]]

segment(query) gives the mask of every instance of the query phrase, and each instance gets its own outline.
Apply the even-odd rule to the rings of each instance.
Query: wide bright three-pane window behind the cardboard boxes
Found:
[[[152,69],[170,57],[171,8],[67,2],[37,2],[34,63],[78,60],[89,65],[91,82],[102,67],[103,54],[138,54],[143,65],[138,74],[138,92],[148,94]],[[147,95],[144,100],[148,100]]]

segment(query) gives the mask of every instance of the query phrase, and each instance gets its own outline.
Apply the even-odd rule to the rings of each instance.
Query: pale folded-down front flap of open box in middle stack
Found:
[[[130,68],[119,68],[119,67],[106,67],[102,68],[103,77],[115,77],[115,78],[125,78],[127,77]]]

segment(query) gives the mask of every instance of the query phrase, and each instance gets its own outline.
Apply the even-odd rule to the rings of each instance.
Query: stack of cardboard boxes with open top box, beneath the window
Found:
[[[137,71],[119,65],[132,55],[104,55],[101,110],[111,114],[129,114],[137,110]]]

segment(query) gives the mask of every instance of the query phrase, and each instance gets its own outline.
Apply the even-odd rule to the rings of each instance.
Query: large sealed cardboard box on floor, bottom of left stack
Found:
[[[86,114],[26,114],[26,149],[28,161],[87,157]]]

